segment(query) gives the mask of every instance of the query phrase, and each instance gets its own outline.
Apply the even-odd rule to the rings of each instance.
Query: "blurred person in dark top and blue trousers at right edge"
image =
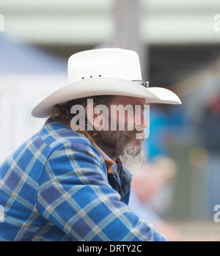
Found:
[[[204,199],[208,200],[205,209],[208,218],[213,219],[213,208],[220,204],[220,92],[210,98],[205,107],[199,130],[202,145],[208,153],[204,175]]]

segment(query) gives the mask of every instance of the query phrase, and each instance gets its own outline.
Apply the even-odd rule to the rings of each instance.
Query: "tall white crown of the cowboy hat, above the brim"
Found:
[[[68,83],[87,78],[142,79],[139,56],[120,48],[95,49],[73,54],[68,60]]]

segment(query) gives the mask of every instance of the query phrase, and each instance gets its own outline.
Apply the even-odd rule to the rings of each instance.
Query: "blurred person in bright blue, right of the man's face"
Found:
[[[169,87],[167,87],[169,88]],[[170,145],[187,134],[188,122],[181,106],[153,104],[150,106],[150,136],[144,140],[143,148],[147,161],[158,156],[171,157]]]

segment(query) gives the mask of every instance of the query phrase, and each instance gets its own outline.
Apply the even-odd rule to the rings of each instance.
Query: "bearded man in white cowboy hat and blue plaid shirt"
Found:
[[[120,128],[120,114],[109,109],[180,99],[148,88],[138,55],[120,48],[73,54],[68,80],[33,109],[49,117],[43,128],[0,167],[0,240],[166,240],[128,208],[131,173],[121,159],[138,158],[148,123],[126,111]]]

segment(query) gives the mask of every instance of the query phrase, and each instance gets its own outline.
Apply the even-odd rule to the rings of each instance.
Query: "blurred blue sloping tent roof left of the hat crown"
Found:
[[[67,73],[67,60],[0,33],[0,73]]]

